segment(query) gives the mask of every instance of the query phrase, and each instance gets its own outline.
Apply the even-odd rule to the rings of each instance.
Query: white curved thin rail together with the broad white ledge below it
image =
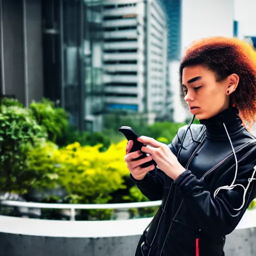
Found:
[[[110,204],[61,204],[0,201],[1,205],[51,209],[121,209],[160,205],[161,200]],[[47,220],[0,215],[0,232],[51,237],[113,237],[139,235],[152,217],[124,220]],[[74,220],[74,215],[70,217]],[[246,210],[235,229],[256,227],[256,209]]]

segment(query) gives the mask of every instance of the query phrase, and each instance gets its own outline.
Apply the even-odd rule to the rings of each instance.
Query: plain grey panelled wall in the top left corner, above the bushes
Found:
[[[1,83],[3,94],[23,104],[43,95],[40,0],[1,0]]]

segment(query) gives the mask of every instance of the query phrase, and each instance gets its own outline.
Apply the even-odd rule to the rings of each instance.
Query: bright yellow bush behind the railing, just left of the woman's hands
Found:
[[[106,203],[110,193],[124,188],[123,176],[129,171],[123,160],[126,141],[111,144],[100,152],[101,144],[81,146],[69,144],[55,154],[60,165],[61,185],[79,203]]]

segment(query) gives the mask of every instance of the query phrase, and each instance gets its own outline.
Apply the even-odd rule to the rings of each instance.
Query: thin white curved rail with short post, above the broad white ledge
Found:
[[[27,208],[47,208],[47,209],[70,209],[70,220],[75,220],[75,209],[129,209],[141,207],[159,206],[161,200],[145,202],[126,202],[126,203],[94,203],[94,204],[75,204],[75,203],[42,203],[2,200],[0,205],[16,206]]]

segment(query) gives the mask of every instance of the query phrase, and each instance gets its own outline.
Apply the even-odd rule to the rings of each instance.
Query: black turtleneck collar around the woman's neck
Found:
[[[237,107],[229,107],[213,117],[201,119],[199,121],[201,124],[205,125],[206,136],[208,138],[228,139],[223,123],[225,123],[230,137],[244,129],[242,120],[238,114],[239,111]]]

